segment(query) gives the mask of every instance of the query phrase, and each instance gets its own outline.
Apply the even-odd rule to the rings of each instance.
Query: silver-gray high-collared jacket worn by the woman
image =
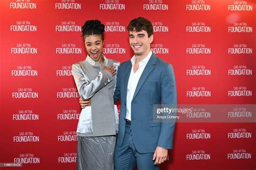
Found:
[[[120,63],[102,57],[102,67],[90,56],[72,65],[72,74],[80,96],[84,99],[91,98],[91,107],[85,107],[80,113],[78,136],[109,136],[118,131],[118,112],[113,103],[116,75],[112,76],[103,68],[112,64],[118,67]]]

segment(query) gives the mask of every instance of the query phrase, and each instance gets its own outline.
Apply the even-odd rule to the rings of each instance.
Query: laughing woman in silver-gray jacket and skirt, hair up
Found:
[[[118,130],[117,108],[113,104],[118,61],[103,54],[105,26],[87,20],[82,27],[84,61],[72,65],[80,96],[89,100],[77,126],[77,169],[113,169],[113,153]]]

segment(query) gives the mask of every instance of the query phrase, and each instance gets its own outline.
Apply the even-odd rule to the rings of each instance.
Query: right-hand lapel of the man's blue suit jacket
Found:
[[[134,92],[132,100],[137,96],[139,93],[140,88],[142,88],[143,83],[145,82],[147,76],[151,73],[151,71],[154,69],[154,65],[156,65],[156,55],[152,53],[150,60],[147,62],[146,67],[143,70],[142,75],[139,78],[139,82],[137,84],[136,90]]]

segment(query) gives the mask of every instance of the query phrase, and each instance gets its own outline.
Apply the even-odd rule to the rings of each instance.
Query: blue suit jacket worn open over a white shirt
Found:
[[[120,121],[117,145],[122,146],[125,134],[127,84],[131,61],[123,62],[117,73],[114,101],[120,100]],[[157,146],[172,148],[175,123],[153,122],[153,104],[177,104],[176,83],[172,66],[151,55],[140,76],[131,103],[131,130],[134,146],[139,153],[150,153]]]

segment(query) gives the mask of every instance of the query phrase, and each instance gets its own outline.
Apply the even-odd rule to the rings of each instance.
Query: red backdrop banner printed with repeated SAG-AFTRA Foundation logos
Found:
[[[101,20],[104,54],[124,62],[133,55],[126,27],[139,16],[153,24],[152,51],[174,68],[178,103],[200,104],[176,124],[161,169],[256,168],[255,1],[0,4],[1,170],[76,169],[81,109],[71,66],[87,55],[81,26]],[[221,114],[224,121],[207,119],[214,115],[202,105],[213,104],[231,105]]]

